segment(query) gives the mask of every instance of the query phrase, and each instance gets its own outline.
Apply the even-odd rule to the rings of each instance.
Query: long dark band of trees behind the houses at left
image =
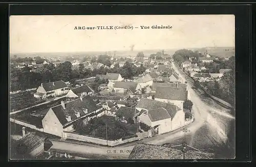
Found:
[[[15,68],[15,65],[10,67],[10,89],[25,90],[28,88],[34,88],[41,83],[49,81],[71,81],[81,78],[89,78],[96,76],[97,74],[105,75],[106,73],[119,73],[123,78],[133,78],[142,74],[146,70],[145,67],[136,67],[134,64],[126,62],[124,66],[119,67],[118,64],[114,68],[90,68],[84,67],[83,64],[79,64],[78,69],[72,69],[72,64],[69,61],[60,63],[58,66],[54,66],[53,63],[45,64],[44,66],[36,69],[36,71],[30,71],[30,67],[26,66],[22,69]]]

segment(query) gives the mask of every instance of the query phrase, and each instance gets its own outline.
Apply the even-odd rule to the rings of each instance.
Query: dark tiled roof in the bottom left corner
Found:
[[[19,145],[24,145],[27,149],[25,154],[29,154],[30,152],[38,148],[43,142],[44,140],[37,136],[35,132],[29,132],[19,140],[15,141],[14,144],[11,146],[11,150],[16,152]]]

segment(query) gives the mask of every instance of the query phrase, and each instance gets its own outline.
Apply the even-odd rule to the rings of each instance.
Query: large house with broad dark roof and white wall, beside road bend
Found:
[[[190,94],[180,87],[157,87],[155,100],[165,103],[173,103],[183,109],[183,103],[190,99]]]

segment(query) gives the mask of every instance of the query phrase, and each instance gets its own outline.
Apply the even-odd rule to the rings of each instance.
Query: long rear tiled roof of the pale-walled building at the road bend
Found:
[[[152,109],[158,109],[158,108],[164,108],[168,111],[170,117],[173,119],[176,112],[181,110],[179,107],[177,107],[174,104],[164,103],[157,100],[151,100],[147,98],[141,98],[139,103],[136,105],[136,108],[143,108],[146,110],[152,110]]]

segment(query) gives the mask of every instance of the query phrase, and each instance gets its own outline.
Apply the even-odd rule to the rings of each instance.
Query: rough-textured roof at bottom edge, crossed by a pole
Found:
[[[168,147],[138,143],[129,159],[183,159],[183,152]],[[187,151],[186,159],[214,159],[214,154],[201,151]]]

